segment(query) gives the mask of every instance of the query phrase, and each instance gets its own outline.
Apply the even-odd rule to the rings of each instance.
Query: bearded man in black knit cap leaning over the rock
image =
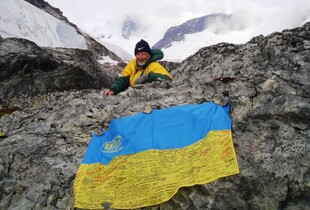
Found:
[[[120,77],[105,91],[105,95],[116,95],[129,86],[134,87],[135,84],[153,82],[158,79],[172,80],[168,71],[157,62],[164,57],[161,50],[151,50],[149,44],[141,39],[136,44],[134,54],[136,58],[127,64]]]

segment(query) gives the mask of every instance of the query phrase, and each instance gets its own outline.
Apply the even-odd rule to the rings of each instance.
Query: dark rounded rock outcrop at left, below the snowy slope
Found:
[[[14,96],[35,96],[73,89],[102,89],[117,76],[81,49],[40,48],[17,38],[0,41],[0,102]]]

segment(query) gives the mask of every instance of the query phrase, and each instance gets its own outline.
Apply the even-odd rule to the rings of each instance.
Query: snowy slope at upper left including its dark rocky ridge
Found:
[[[113,47],[106,48],[44,0],[12,0],[3,4],[0,7],[0,35],[3,38],[27,39],[41,47],[87,49],[93,52],[97,59],[108,56],[121,62],[129,57],[128,53],[119,47],[115,47],[115,52]]]

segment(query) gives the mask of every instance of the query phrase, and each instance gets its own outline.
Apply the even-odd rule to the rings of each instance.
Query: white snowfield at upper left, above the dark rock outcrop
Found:
[[[3,38],[24,38],[44,47],[87,48],[75,28],[24,0],[7,1],[0,7],[0,16]]]

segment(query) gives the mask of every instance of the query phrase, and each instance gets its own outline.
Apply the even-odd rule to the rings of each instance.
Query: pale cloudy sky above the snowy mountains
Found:
[[[47,0],[70,21],[99,35],[120,30],[132,17],[141,22],[151,41],[171,26],[211,13],[239,13],[246,24],[260,26],[263,34],[295,26],[310,13],[309,0]],[[309,16],[308,16],[309,17]],[[143,27],[142,27],[143,28]],[[149,35],[149,34],[153,35]],[[153,38],[154,37],[154,38]]]

